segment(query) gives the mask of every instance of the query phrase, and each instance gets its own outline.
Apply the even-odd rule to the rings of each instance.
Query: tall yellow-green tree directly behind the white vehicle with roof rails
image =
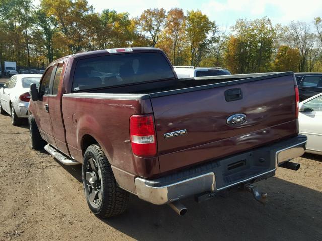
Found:
[[[207,47],[215,40],[217,26],[200,10],[192,10],[187,12],[185,31],[190,45],[190,65],[200,66]]]

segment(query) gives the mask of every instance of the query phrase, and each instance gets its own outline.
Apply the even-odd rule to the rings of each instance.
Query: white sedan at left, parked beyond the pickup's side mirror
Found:
[[[21,118],[28,118],[30,100],[29,86],[39,84],[41,74],[16,74],[0,86],[0,113],[11,116],[13,125],[19,125]]]

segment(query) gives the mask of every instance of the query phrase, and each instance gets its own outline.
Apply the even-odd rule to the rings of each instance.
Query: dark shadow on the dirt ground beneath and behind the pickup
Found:
[[[82,182],[81,165],[61,166]],[[265,206],[244,192],[188,198],[180,217],[131,195],[126,213],[102,221],[137,240],[322,240],[321,192],[276,177],[256,185],[269,194]]]

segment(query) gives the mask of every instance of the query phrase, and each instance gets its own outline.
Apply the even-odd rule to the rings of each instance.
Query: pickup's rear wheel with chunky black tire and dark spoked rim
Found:
[[[93,163],[94,168],[92,168]],[[91,169],[92,172],[90,172]],[[91,173],[91,179],[89,178],[89,173]],[[93,184],[95,183],[93,177],[97,181],[96,184]],[[82,168],[82,179],[87,204],[92,213],[97,217],[108,218],[119,215],[126,210],[129,193],[116,184],[112,168],[102,148],[98,144],[90,145],[86,149]],[[92,195],[93,193],[94,195]],[[91,197],[93,201],[90,199]]]

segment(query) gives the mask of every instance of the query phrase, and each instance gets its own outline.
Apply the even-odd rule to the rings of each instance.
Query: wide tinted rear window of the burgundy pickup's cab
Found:
[[[125,53],[77,62],[73,91],[175,78],[160,53]]]

